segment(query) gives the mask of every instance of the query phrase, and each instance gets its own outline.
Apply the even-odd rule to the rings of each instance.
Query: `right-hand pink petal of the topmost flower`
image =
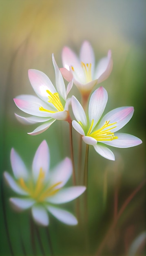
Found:
[[[111,74],[111,71],[113,69],[113,60],[111,57],[111,50],[108,51],[108,56],[105,58],[102,58],[100,62],[97,65],[97,68],[95,70],[95,76],[94,78],[98,79],[98,83],[101,83],[105,79],[108,78],[108,76]]]

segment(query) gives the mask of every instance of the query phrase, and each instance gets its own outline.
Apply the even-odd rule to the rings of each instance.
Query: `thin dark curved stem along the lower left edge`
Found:
[[[9,235],[9,229],[7,225],[7,216],[6,216],[6,207],[5,207],[5,202],[4,202],[4,188],[3,188],[3,182],[1,179],[1,198],[2,198],[2,211],[3,211],[3,216],[4,216],[4,225],[5,225],[5,230],[7,234],[7,239],[8,239],[8,244],[9,244],[9,249],[11,256],[14,256],[12,245],[11,245],[11,240],[10,240],[10,235]]]

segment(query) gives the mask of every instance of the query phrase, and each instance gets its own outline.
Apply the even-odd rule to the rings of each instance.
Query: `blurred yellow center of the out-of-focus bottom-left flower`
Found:
[[[57,193],[59,191],[57,186],[62,183],[57,182],[52,186],[46,188],[46,184],[44,184],[44,177],[45,173],[42,168],[40,168],[38,179],[35,184],[32,182],[32,180],[29,182],[29,184],[26,184],[23,178],[20,178],[18,180],[18,184],[22,187],[24,191],[29,193],[31,198],[35,199],[37,202],[43,202],[45,198]]]

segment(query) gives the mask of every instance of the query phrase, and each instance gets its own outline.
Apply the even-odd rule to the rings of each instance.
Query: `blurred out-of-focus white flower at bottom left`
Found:
[[[4,178],[19,197],[10,198],[10,202],[19,211],[31,208],[33,219],[40,225],[49,225],[47,212],[67,225],[76,225],[75,216],[69,211],[56,207],[55,204],[72,201],[86,188],[84,186],[63,188],[72,174],[72,164],[68,157],[62,160],[53,171],[49,171],[49,164],[49,147],[45,140],[35,153],[31,173],[12,148],[11,166],[14,177],[5,171]]]

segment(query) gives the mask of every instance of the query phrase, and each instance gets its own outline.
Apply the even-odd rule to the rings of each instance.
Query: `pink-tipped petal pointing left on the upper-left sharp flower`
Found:
[[[19,95],[13,100],[20,110],[37,117],[49,117],[49,112],[39,110],[41,106],[47,110],[55,110],[55,108],[52,108],[49,103],[46,104],[44,101],[33,95]]]

